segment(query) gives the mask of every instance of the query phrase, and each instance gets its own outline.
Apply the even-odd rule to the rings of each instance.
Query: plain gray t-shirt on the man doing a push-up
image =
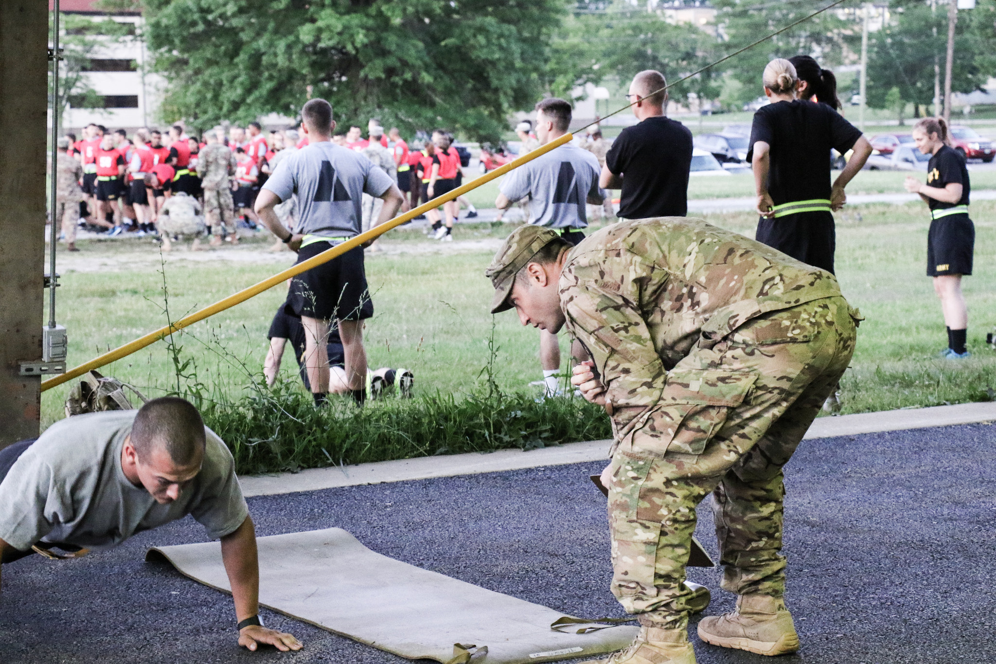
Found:
[[[124,477],[122,447],[137,410],[74,415],[56,422],[0,483],[0,540],[27,551],[39,540],[110,549],[135,533],[192,515],[212,539],[249,516],[235,461],[210,429],[200,473],[159,505]]]

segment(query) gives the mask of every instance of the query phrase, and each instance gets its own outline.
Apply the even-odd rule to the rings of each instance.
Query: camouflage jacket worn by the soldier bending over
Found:
[[[841,295],[828,272],[684,217],[593,233],[568,254],[559,286],[567,329],[606,386],[617,440],[647,418],[667,371],[694,347],[710,348],[762,314]],[[771,342],[800,333],[777,328],[760,333]]]

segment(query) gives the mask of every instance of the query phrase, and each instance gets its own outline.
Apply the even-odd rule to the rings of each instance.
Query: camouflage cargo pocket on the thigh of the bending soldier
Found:
[[[654,422],[644,427],[652,433],[636,431],[632,450],[653,455],[701,454],[756,380],[757,375],[747,371],[671,369]]]

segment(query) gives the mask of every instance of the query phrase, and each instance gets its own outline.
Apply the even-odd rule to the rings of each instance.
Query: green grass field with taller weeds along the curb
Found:
[[[867,318],[843,380],[844,412],[983,400],[996,388],[996,352],[982,340],[996,324],[996,294],[989,286],[996,280],[991,260],[996,255],[996,203],[981,201],[972,207],[976,265],[975,275],[965,280],[965,293],[974,356],[960,362],[933,357],[946,339],[940,307],[924,276],[929,223],[924,207],[870,205],[837,215],[838,275],[849,301]],[[749,213],[707,218],[749,236],[756,223]],[[510,230],[509,225],[460,225],[454,234],[457,240],[481,240],[504,237]],[[417,230],[396,230],[382,242],[388,249],[411,252],[422,248],[422,238]],[[85,240],[79,246],[83,252],[76,257],[108,267],[99,272],[60,269],[58,311],[69,331],[71,366],[166,322],[162,276],[151,244]],[[140,257],[148,258],[133,262]],[[165,266],[173,320],[290,262],[289,257],[283,259],[286,263],[260,265],[181,259],[182,252],[176,252]],[[491,288],[483,273],[490,260],[491,253],[481,250],[368,257],[375,309],[365,332],[370,361],[373,367],[411,368],[416,380],[411,402],[388,399],[363,414],[341,406],[316,414],[310,397],[301,392],[289,349],[283,386],[273,393],[260,389],[254,378],[266,353],[270,321],[284,299],[283,287],[175,334],[179,356],[189,360],[179,391],[201,396],[208,421],[227,436],[244,471],[608,435],[605,418],[580,402],[533,401],[536,391],[527,383],[541,377],[539,335],[521,327],[512,314],[488,314]],[[566,341],[562,346],[567,347]],[[489,366],[493,382],[483,371]],[[101,370],[149,396],[177,391],[162,342]],[[494,396],[495,387],[501,397]],[[62,418],[68,390],[67,384],[43,394],[44,426]],[[483,396],[489,391],[490,399]],[[516,412],[522,414],[512,417]],[[546,425],[550,428],[543,428]]]

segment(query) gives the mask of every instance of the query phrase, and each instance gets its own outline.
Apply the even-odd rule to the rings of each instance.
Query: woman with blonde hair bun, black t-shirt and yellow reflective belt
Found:
[[[826,104],[797,99],[799,77],[788,60],[768,63],[763,82],[771,104],[754,113],[747,152],[761,215],[755,239],[833,274],[831,212],[847,201],[844,187],[865,165],[871,143]],[[832,186],[831,148],[844,154],[852,147],[848,165]]]

